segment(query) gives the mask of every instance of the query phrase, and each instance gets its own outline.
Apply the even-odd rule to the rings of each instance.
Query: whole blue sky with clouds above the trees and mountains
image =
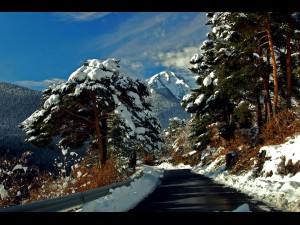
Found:
[[[0,12],[0,81],[43,90],[86,59],[121,59],[142,79],[189,73],[208,27],[203,12]]]

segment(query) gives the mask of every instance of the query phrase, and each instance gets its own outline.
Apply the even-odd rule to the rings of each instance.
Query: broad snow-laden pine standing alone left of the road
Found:
[[[109,134],[116,130],[124,135],[124,148],[140,145],[147,152],[159,151],[160,124],[147,102],[147,86],[122,74],[119,61],[87,60],[66,82],[44,90],[42,107],[20,124],[29,136],[26,141],[46,146],[56,137],[62,149],[90,143],[98,150],[100,165],[107,160],[108,138],[114,138]]]

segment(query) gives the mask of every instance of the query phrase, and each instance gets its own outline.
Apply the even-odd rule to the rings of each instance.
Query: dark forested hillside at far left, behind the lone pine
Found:
[[[41,92],[0,82],[0,155],[9,152],[8,157],[20,155],[24,150],[34,154],[31,160],[43,168],[52,167],[50,158],[57,152],[41,151],[24,142],[25,133],[18,125],[28,118],[40,106]]]

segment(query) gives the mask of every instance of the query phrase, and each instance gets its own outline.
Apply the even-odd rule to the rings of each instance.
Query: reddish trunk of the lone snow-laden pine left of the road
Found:
[[[103,157],[102,135],[101,135],[101,129],[100,129],[99,111],[97,108],[96,95],[94,93],[92,93],[91,97],[92,97],[92,101],[93,101],[93,109],[94,109],[94,114],[95,114],[95,128],[96,128],[96,134],[97,134],[99,166],[102,167],[104,165],[105,161],[104,161],[104,157]]]

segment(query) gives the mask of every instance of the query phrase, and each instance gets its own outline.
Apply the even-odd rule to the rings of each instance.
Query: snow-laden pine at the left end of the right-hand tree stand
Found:
[[[195,149],[203,149],[210,139],[210,132],[207,130],[209,124],[220,122],[222,131],[226,138],[229,138],[231,130],[231,115],[233,104],[229,95],[219,88],[216,68],[220,64],[225,52],[219,51],[220,23],[223,13],[207,13],[212,30],[207,34],[207,39],[200,47],[201,53],[196,54],[190,60],[193,64],[190,70],[198,73],[197,84],[199,88],[192,89],[190,94],[184,96],[181,105],[187,112],[192,113],[190,126],[191,137],[198,137]],[[221,29],[224,29],[221,27]],[[224,49],[223,49],[224,50]],[[225,134],[227,132],[227,134]]]

